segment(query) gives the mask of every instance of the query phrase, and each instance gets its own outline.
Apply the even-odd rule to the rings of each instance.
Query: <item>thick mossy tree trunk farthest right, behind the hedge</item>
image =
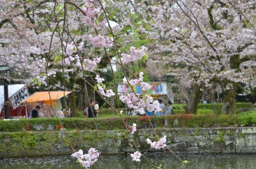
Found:
[[[236,91],[237,84],[232,83],[233,88],[224,92],[222,114],[233,114],[236,109]]]

